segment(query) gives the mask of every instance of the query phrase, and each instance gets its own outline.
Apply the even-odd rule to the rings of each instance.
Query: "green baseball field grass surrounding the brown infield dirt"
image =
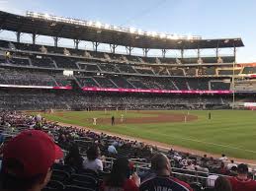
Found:
[[[111,124],[93,126],[91,119],[116,119],[125,111],[64,111],[43,114],[47,119],[74,125],[89,126],[128,136],[158,141],[171,145],[201,150],[214,154],[226,154],[240,159],[256,159],[256,111],[249,110],[214,110],[212,119],[208,111],[193,110],[190,114],[199,118],[192,122],[170,122],[158,124]],[[141,111],[142,112],[142,111]],[[147,111],[155,112],[155,111]],[[157,111],[165,113],[187,113],[187,111]],[[62,116],[60,116],[62,115]],[[128,111],[128,117],[154,116],[136,111]],[[111,120],[110,120],[111,121]]]

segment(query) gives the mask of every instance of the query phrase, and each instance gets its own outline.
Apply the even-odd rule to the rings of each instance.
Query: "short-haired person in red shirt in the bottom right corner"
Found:
[[[229,178],[232,191],[255,191],[256,181],[248,177],[248,166],[240,163],[237,166],[237,176]]]

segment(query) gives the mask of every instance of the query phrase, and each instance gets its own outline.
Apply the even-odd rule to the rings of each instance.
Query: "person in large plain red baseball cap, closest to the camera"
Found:
[[[39,130],[20,133],[4,147],[1,191],[40,191],[48,183],[61,149]]]

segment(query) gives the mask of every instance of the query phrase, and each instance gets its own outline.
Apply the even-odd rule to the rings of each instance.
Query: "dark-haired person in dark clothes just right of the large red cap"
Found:
[[[76,144],[72,144],[69,148],[68,154],[64,159],[66,165],[71,166],[75,170],[79,170],[83,167],[83,158],[79,153],[79,148]]]

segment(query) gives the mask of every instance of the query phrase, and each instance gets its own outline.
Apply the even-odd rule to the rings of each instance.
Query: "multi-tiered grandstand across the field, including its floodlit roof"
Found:
[[[250,102],[256,91],[256,67],[236,63],[241,38],[204,39],[124,29],[28,12],[26,16],[0,12],[0,107],[5,109],[88,108],[226,108],[237,99]],[[30,43],[21,41],[29,33]],[[37,43],[51,36],[54,45]],[[59,47],[60,38],[74,47]],[[94,50],[79,47],[90,41]],[[110,52],[100,52],[101,43]],[[117,52],[122,46],[127,54]],[[133,54],[140,48],[143,56]],[[161,57],[149,56],[158,50]],[[214,55],[204,55],[213,49]],[[229,55],[221,55],[229,49]],[[168,51],[180,56],[168,57]],[[187,57],[187,50],[197,56]],[[67,74],[67,75],[66,75]]]

